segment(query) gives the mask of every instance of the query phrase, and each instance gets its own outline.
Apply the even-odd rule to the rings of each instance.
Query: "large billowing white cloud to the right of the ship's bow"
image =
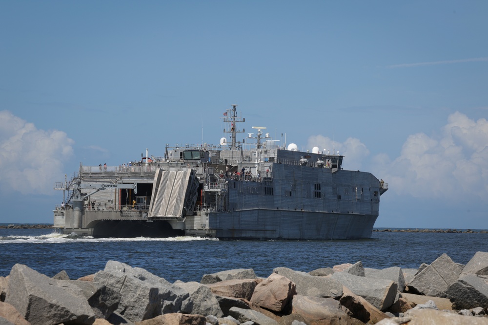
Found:
[[[389,188],[414,197],[488,197],[488,122],[456,112],[437,136],[412,134],[399,157],[374,157]]]

